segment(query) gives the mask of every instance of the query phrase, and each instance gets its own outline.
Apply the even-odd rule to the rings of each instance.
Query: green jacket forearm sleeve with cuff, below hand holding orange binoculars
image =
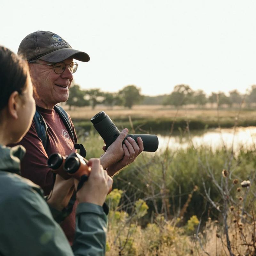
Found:
[[[76,209],[76,234],[72,246],[77,256],[104,256],[107,215],[100,205],[80,203]]]

